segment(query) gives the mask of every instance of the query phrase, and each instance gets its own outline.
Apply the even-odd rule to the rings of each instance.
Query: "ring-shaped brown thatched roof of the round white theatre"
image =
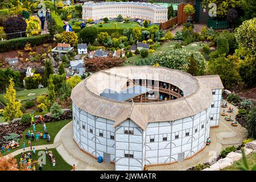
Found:
[[[134,78],[171,83],[183,90],[184,97],[142,103],[114,101],[100,96],[105,89],[120,92],[127,80]],[[164,67],[127,66],[94,73],[72,90],[71,98],[80,109],[115,121],[114,127],[130,118],[145,130],[149,122],[174,121],[207,109],[213,99],[211,89],[221,88],[221,85],[218,76],[192,77],[188,73]]]

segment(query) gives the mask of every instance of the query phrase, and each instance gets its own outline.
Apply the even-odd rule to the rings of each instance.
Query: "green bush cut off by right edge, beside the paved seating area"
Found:
[[[256,138],[256,106],[254,106],[247,114],[246,128],[249,138]]]

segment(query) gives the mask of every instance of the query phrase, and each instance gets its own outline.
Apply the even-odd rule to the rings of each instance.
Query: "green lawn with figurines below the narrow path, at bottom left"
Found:
[[[32,154],[32,163],[35,164],[36,171],[38,171],[38,159],[42,155],[38,155],[39,151],[43,150],[38,150],[36,151],[36,155]],[[52,151],[52,154],[55,158],[55,166],[52,166],[51,160],[49,159],[48,155],[46,154],[46,164],[43,164],[43,171],[70,171],[72,169],[72,166],[70,166],[65,160],[61,157],[59,152],[55,148],[49,148],[48,151]],[[20,156],[21,155],[16,155],[14,158],[17,160],[17,162],[20,162]]]

